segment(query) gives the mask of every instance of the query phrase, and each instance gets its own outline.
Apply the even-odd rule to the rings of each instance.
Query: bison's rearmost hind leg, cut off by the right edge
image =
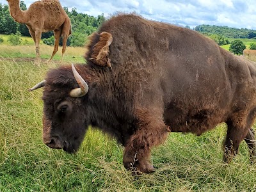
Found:
[[[255,141],[255,133],[252,128],[249,129],[246,138],[244,138],[246,144],[248,145],[250,152],[250,162],[256,163],[256,141]]]

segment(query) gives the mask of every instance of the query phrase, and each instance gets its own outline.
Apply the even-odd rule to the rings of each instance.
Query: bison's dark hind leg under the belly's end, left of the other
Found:
[[[234,156],[239,151],[239,145],[241,141],[246,138],[248,129],[243,126],[239,126],[236,122],[228,122],[227,137],[224,144],[224,156],[223,161],[230,163]]]

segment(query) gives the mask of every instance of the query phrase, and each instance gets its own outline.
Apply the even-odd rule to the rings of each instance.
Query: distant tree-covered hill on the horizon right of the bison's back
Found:
[[[228,28],[227,26],[200,25],[195,27],[195,31],[204,34],[223,35],[227,38],[256,38],[256,31],[252,29]]]

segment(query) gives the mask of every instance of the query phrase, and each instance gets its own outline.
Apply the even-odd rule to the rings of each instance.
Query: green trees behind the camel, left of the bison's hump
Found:
[[[93,17],[84,13],[77,13],[76,8],[72,8],[69,12],[67,7],[63,7],[65,12],[70,17],[72,24],[72,35],[68,38],[68,46],[83,46],[86,41],[86,36],[90,35],[94,31],[97,31],[99,26],[105,20],[105,17],[98,15]],[[24,1],[20,1],[20,9],[27,10]],[[28,28],[25,24],[19,24],[15,22],[10,15],[9,6],[0,3],[0,34],[15,35],[19,38],[22,36],[30,36]],[[53,32],[42,33],[43,42],[47,45],[54,45]],[[62,40],[60,40],[62,45]]]

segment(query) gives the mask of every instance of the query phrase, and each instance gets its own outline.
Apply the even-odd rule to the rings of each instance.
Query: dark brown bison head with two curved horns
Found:
[[[48,147],[74,153],[81,145],[88,127],[83,105],[88,84],[72,64],[72,71],[68,67],[51,70],[44,81],[29,91],[42,86],[44,143]]]

